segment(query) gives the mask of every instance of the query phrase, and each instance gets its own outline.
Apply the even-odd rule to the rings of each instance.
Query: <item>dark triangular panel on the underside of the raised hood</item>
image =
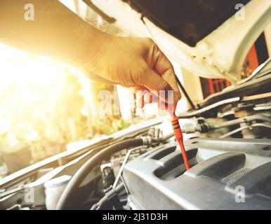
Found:
[[[161,29],[194,46],[249,0],[123,0]]]

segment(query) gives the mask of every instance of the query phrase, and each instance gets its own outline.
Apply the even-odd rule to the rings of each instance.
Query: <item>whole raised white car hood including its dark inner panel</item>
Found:
[[[193,73],[232,83],[271,20],[270,0],[92,0],[91,7],[131,34],[152,37]]]

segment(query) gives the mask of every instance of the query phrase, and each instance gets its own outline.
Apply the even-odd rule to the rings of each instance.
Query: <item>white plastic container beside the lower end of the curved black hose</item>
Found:
[[[71,178],[69,175],[63,175],[44,183],[46,209],[55,210],[58,200]]]

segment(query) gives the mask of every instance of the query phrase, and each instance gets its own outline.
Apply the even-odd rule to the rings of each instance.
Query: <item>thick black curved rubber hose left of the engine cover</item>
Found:
[[[57,210],[72,209],[75,202],[73,202],[73,195],[77,195],[80,184],[84,181],[86,176],[91,172],[97,165],[99,165],[103,160],[110,158],[111,155],[121,151],[124,148],[143,146],[143,139],[129,139],[126,141],[121,141],[112,146],[108,146],[97,154],[93,155],[75,174],[72,179],[67,184],[67,187],[63,191],[58,205]]]

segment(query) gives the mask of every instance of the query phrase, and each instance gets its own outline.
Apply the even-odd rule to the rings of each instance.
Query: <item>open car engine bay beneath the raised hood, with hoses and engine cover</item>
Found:
[[[0,208],[271,209],[269,71],[178,115],[188,171],[163,117],[11,174]]]

